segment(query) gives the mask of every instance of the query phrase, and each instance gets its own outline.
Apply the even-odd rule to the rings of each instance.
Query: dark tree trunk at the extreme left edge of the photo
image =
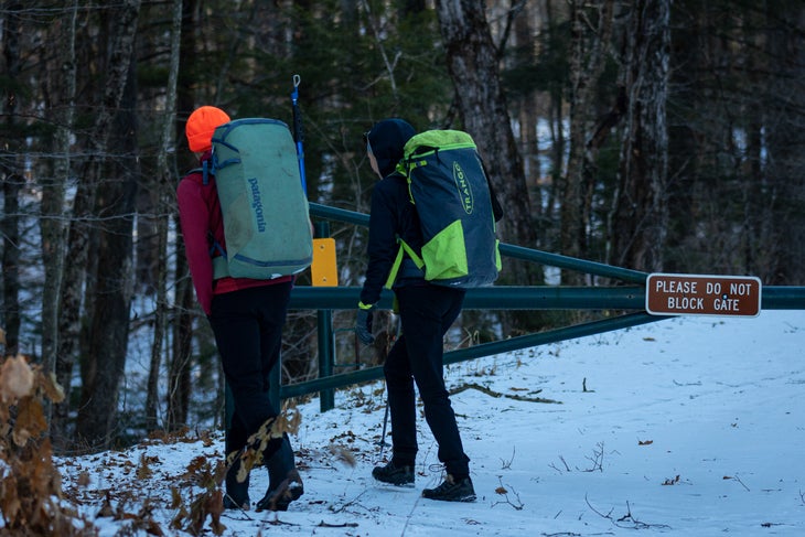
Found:
[[[20,11],[22,2],[8,2],[7,14],[4,14],[3,28],[3,56],[6,60],[6,76],[15,80],[20,75],[22,64],[20,62]],[[3,129],[7,136],[13,136],[18,131],[15,127],[15,115],[19,96],[14,92],[15,84],[9,84],[9,89],[3,95]],[[2,322],[6,331],[6,354],[17,354],[20,345],[20,190],[23,178],[20,174],[18,140],[7,139],[0,149],[3,162],[7,162],[8,171],[3,172],[3,214],[0,218],[0,234],[3,237],[2,253]]]

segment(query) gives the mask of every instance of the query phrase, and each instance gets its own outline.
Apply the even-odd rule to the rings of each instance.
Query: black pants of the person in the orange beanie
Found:
[[[249,436],[279,415],[269,397],[269,374],[282,346],[290,282],[254,287],[213,297],[210,324],[221,354],[235,409],[226,431],[226,452],[240,450]],[[273,439],[268,460],[281,445]]]

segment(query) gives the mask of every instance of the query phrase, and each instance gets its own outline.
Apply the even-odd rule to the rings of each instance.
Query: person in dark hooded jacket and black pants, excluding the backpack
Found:
[[[365,136],[372,170],[380,178],[372,193],[368,266],[361,291],[355,330],[364,344],[374,341],[373,309],[384,284],[391,284],[402,324],[401,335],[386,357],[384,373],[391,416],[391,460],[372,475],[384,483],[414,483],[417,457],[416,382],[425,406],[425,418],[439,444],[439,461],[447,476],[422,496],[450,502],[472,502],[475,491],[470,479],[470,459],[464,453],[455,414],[444,387],[443,337],[459,316],[464,290],[434,286],[406,255],[394,282],[387,282],[399,251],[397,237],[421,251],[419,217],[408,193],[406,179],[395,171],[406,142],[416,135],[401,119],[385,119]],[[385,439],[384,439],[385,440]]]

